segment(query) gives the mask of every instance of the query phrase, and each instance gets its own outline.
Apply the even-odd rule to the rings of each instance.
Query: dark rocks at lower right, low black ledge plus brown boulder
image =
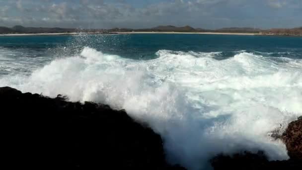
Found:
[[[218,155],[210,161],[211,165],[214,170],[302,170],[302,119],[290,123],[280,138],[286,144],[290,160],[268,161],[262,151],[257,154],[243,152]]]

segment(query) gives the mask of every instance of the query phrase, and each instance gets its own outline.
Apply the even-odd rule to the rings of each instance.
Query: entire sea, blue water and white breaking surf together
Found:
[[[0,37],[0,86],[126,109],[190,170],[243,150],[286,160],[270,135],[302,115],[302,37]]]

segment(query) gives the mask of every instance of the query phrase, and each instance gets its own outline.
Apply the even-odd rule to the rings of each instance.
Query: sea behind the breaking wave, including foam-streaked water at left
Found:
[[[135,60],[157,58],[159,50],[221,52],[213,57],[217,60],[239,52],[274,57],[274,60],[278,57],[302,59],[302,37],[201,34],[0,36],[0,75],[30,74],[55,58],[77,55],[84,47]],[[24,66],[27,62],[32,66],[29,69]],[[18,64],[20,67],[16,66]]]

